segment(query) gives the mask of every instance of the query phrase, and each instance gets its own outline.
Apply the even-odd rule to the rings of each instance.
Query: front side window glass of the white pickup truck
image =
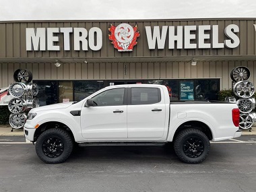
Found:
[[[106,90],[93,97],[96,106],[116,106],[123,105],[125,88]]]

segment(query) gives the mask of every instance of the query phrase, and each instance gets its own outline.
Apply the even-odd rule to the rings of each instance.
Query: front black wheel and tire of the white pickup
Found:
[[[65,162],[73,150],[73,139],[63,129],[48,129],[36,141],[36,154],[45,163]]]

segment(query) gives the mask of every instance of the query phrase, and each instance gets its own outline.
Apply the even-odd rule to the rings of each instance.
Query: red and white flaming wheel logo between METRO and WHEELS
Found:
[[[136,40],[139,37],[137,26],[133,27],[129,24],[120,24],[119,26],[111,25],[109,31],[109,40],[112,40],[115,49],[118,51],[133,51],[133,46],[137,44]]]

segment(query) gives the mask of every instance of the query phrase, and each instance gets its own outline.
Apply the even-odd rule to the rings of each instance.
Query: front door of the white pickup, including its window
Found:
[[[127,89],[113,88],[93,97],[94,106],[81,110],[86,139],[127,139]]]

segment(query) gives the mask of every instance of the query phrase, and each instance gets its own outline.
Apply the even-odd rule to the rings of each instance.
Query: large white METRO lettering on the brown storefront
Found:
[[[98,51],[102,48],[100,28],[26,28],[27,51],[60,51],[59,34],[63,34],[64,50],[70,51],[70,36],[73,34],[73,50]]]

